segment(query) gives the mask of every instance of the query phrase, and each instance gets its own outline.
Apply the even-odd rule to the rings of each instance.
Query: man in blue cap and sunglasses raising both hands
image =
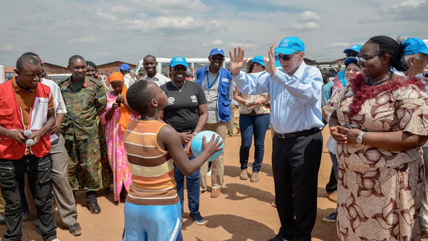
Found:
[[[275,49],[270,44],[266,71],[259,73],[240,71],[247,59],[241,47],[236,50],[233,56],[229,51],[230,72],[239,91],[270,94],[272,170],[281,221],[278,235],[270,240],[311,240],[323,146],[321,72],[303,62],[305,45],[297,37],[282,39]],[[281,67],[276,68],[275,59]]]

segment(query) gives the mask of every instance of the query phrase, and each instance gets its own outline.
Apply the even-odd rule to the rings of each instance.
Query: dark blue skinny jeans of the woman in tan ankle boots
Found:
[[[265,135],[269,127],[270,115],[239,115],[239,129],[241,129],[241,149],[239,150],[239,162],[241,169],[247,169],[250,147],[254,134],[254,163],[253,172],[258,173],[262,167],[265,154]]]

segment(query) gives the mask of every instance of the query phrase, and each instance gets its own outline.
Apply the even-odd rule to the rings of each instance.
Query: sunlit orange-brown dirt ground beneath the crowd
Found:
[[[324,143],[329,135],[328,129],[323,131]],[[274,187],[271,165],[272,139],[270,131],[266,132],[265,159],[260,171],[260,181],[250,182],[250,179],[239,179],[239,147],[241,136],[226,138],[224,155],[224,186],[221,195],[211,198],[211,188],[201,194],[200,208],[202,217],[207,220],[204,226],[196,225],[187,215],[183,218],[182,234],[184,240],[268,240],[279,230],[279,217],[276,209],[271,206],[274,200]],[[250,150],[250,166],[253,164]],[[322,218],[334,211],[336,204],[327,199],[325,185],[328,182],[331,161],[324,147],[321,167],[318,176],[318,212],[315,227],[312,231],[313,240],[337,240],[336,224],[325,223]],[[251,172],[251,168],[248,169]],[[208,178],[208,184],[211,180]],[[186,193],[185,200],[187,200]],[[82,226],[82,235],[73,236],[63,226],[58,212],[55,220],[58,224],[57,234],[60,240],[121,240],[124,226],[124,203],[112,203],[113,194],[98,191],[98,202],[102,208],[101,214],[92,215],[86,208],[84,192],[77,193],[78,222]],[[187,201],[184,212],[189,212]],[[6,231],[6,226],[0,226],[0,233]],[[42,240],[31,222],[23,223],[24,236],[22,240]]]

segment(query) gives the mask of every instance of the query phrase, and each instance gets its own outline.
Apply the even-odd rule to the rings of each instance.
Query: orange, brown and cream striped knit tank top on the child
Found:
[[[132,171],[132,185],[126,197],[128,203],[171,205],[180,200],[172,159],[157,141],[164,125],[158,120],[133,119],[126,127],[124,141]]]

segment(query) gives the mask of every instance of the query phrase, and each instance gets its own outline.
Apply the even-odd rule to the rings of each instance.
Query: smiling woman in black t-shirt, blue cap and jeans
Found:
[[[189,141],[202,131],[208,120],[208,107],[205,93],[196,82],[187,81],[187,61],[183,57],[174,57],[169,62],[171,81],[160,88],[168,96],[168,106],[159,113],[159,119],[171,125],[180,135],[183,146],[190,144]],[[195,158],[189,156],[189,159]],[[183,185],[184,175],[174,165],[174,177],[177,182],[178,196],[183,212]],[[187,176],[187,198],[189,199],[189,217],[196,224],[203,225],[205,220],[199,213],[199,170]]]

